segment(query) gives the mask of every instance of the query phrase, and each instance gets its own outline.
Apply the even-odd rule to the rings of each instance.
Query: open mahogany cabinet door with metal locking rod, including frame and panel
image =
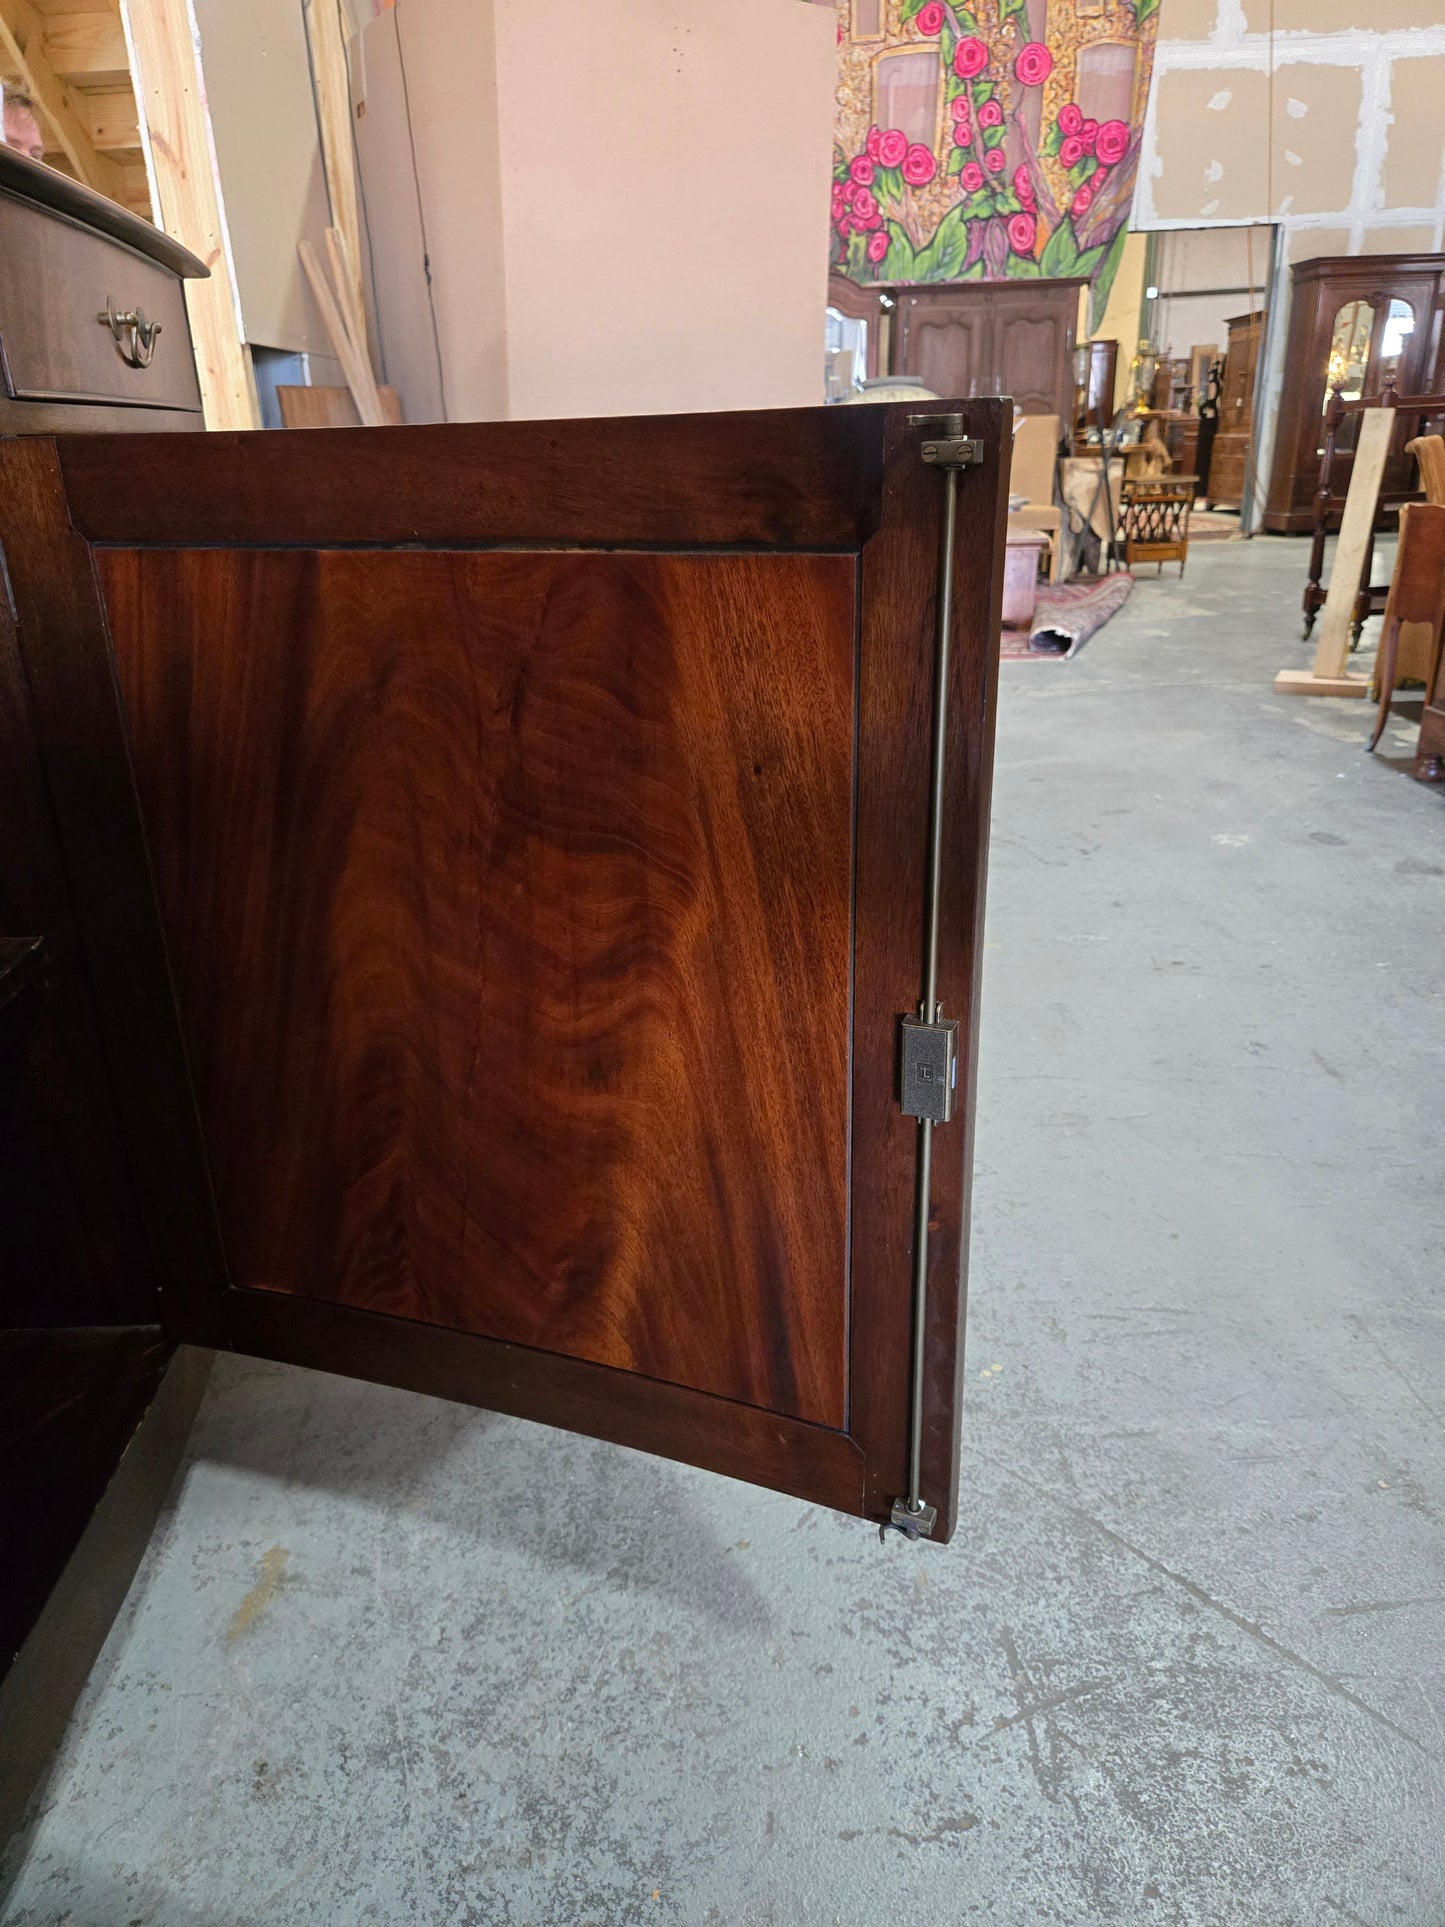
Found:
[[[171,1335],[948,1536],[1008,428],[934,407],[0,445]]]

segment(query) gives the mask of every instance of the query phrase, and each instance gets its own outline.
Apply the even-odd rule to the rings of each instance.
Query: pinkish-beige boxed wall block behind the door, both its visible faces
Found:
[[[426,301],[397,35],[451,420],[823,399],[828,10],[401,0],[353,50],[383,322]],[[381,333],[403,399],[434,391],[435,349]]]

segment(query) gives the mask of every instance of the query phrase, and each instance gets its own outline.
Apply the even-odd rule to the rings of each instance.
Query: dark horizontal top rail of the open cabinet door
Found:
[[[91,541],[538,541],[857,549],[877,526],[882,409],[62,443]],[[127,486],[116,488],[118,466]]]

